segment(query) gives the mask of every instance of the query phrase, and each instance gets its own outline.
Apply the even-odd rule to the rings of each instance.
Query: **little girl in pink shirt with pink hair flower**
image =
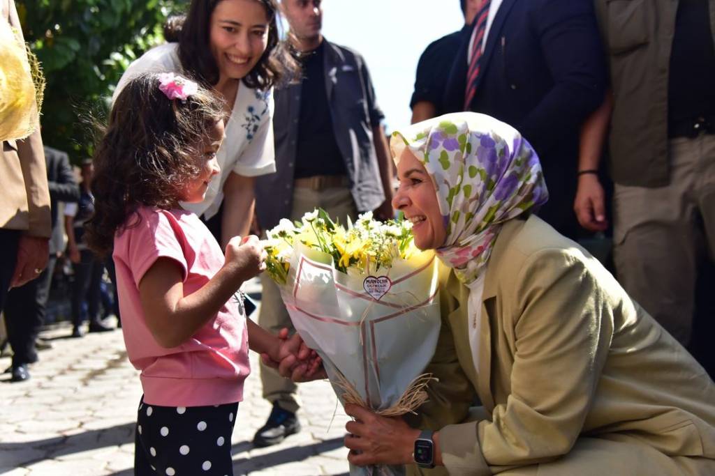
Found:
[[[299,340],[247,320],[235,295],[265,269],[258,238],[233,238],[224,254],[179,206],[202,201],[219,173],[222,118],[220,100],[197,83],[138,76],[117,96],[94,157],[89,243],[100,254],[114,250],[124,343],[142,371],[137,475],[233,474],[248,348],[317,368]]]

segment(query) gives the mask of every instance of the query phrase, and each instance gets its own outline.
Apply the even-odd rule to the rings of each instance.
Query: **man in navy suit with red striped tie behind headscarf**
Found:
[[[516,127],[546,177],[550,198],[539,216],[574,238],[579,133],[603,101],[605,81],[592,1],[486,0],[463,35],[445,109]]]

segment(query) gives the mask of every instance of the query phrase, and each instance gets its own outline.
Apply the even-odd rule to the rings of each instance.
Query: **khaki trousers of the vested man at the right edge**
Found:
[[[715,256],[715,136],[669,141],[671,183],[613,194],[618,280],[674,338],[691,339],[699,265]]]

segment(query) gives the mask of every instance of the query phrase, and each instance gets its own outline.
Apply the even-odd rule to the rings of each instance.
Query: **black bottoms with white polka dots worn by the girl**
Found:
[[[139,402],[134,475],[233,476],[231,434],[238,403],[159,407]]]

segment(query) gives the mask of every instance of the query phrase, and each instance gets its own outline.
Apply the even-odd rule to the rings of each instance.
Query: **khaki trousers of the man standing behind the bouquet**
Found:
[[[338,218],[343,225],[346,223],[347,216],[350,216],[352,220],[358,216],[355,201],[352,200],[352,194],[348,188],[336,187],[315,191],[310,188],[296,187],[293,190],[293,206],[290,217],[285,218],[300,220],[306,212],[313,211],[316,207],[325,210],[333,220]],[[278,333],[282,328],[289,328],[291,333],[294,332],[277,285],[265,274],[261,276],[261,284],[263,290],[258,323],[270,333]],[[276,370],[266,367],[263,363],[260,368],[263,397],[272,403],[278,402],[282,409],[295,413],[300,407],[297,395],[295,395],[295,383],[287,378],[282,378]]]

